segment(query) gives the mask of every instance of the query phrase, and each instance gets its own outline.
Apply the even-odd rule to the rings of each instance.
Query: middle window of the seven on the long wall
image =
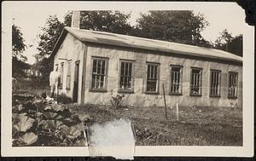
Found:
[[[182,94],[182,66],[171,66],[171,95]]]

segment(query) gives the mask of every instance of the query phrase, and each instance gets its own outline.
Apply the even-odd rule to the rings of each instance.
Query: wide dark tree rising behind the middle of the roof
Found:
[[[201,37],[209,25],[203,14],[192,11],[149,11],[137,20],[133,35],[176,43],[212,47]]]

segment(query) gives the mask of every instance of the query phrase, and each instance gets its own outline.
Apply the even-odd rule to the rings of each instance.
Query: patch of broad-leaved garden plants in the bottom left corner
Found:
[[[64,105],[33,97],[13,104],[13,146],[85,146],[87,114],[73,114]]]

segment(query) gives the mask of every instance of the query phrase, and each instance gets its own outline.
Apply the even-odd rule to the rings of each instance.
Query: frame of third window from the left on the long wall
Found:
[[[157,83],[156,83],[156,91],[148,91],[148,66],[157,66]],[[146,61],[146,84],[145,84],[145,94],[153,94],[153,95],[159,95],[160,92],[160,63],[159,62],[150,62]]]

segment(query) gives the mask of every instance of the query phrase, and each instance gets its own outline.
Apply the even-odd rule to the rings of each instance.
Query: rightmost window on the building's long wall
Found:
[[[237,97],[237,72],[229,72],[229,98]]]

